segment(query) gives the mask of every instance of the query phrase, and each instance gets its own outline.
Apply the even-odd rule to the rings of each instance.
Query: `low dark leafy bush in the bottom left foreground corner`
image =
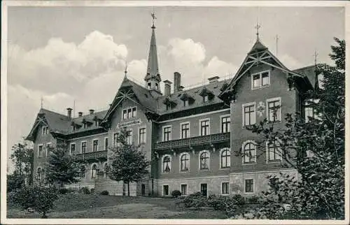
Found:
[[[46,214],[53,208],[53,202],[58,198],[57,189],[35,184],[31,187],[18,189],[13,195],[13,201],[22,209],[34,208],[42,214],[41,218],[47,218]]]

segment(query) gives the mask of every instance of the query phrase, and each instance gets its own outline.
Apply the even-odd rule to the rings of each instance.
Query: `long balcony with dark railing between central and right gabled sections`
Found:
[[[214,133],[206,136],[197,136],[193,138],[162,141],[160,143],[155,143],[154,150],[174,149],[179,147],[191,147],[195,145],[211,145],[215,143],[223,143],[225,141],[230,141],[230,132]]]

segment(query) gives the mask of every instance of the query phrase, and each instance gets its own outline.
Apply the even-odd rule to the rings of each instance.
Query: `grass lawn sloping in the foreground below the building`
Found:
[[[188,210],[179,208],[173,198],[102,196],[65,194],[55,202],[48,218],[106,218],[106,219],[225,219],[216,210]],[[40,218],[8,205],[8,218]]]

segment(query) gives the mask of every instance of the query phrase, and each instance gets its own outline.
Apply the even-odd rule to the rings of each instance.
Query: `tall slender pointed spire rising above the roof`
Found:
[[[158,80],[158,82],[160,82],[161,79],[158,71],[158,55],[157,55],[157,44],[155,42],[155,25],[154,25],[154,21],[157,18],[155,17],[154,11],[153,13],[151,13],[151,15],[152,15],[153,25],[151,27],[152,28],[151,45],[150,45],[150,51],[148,55],[148,65],[147,65],[147,73],[146,73],[145,80],[155,78],[156,80]]]

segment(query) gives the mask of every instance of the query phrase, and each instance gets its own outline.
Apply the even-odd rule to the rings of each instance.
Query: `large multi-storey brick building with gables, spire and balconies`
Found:
[[[174,190],[183,195],[259,194],[267,188],[267,175],[296,175],[283,166],[278,141],[258,145],[259,136],[246,126],[267,119],[278,129],[286,113],[308,113],[304,93],[317,80],[314,66],[289,70],[257,36],[229,80],[214,76],[208,84],[186,89],[175,72],[174,84],[165,80],[162,91],[154,25],[148,53],[144,86],[125,72],[108,110],[72,117],[71,108],[66,115],[41,108],[27,136],[34,142],[37,179],[45,179],[48,145],[64,143],[85,165],[80,182],[70,186],[125,195],[127,185],[105,172],[121,129],[151,161],[149,174],[130,185],[134,196],[169,196]]]

